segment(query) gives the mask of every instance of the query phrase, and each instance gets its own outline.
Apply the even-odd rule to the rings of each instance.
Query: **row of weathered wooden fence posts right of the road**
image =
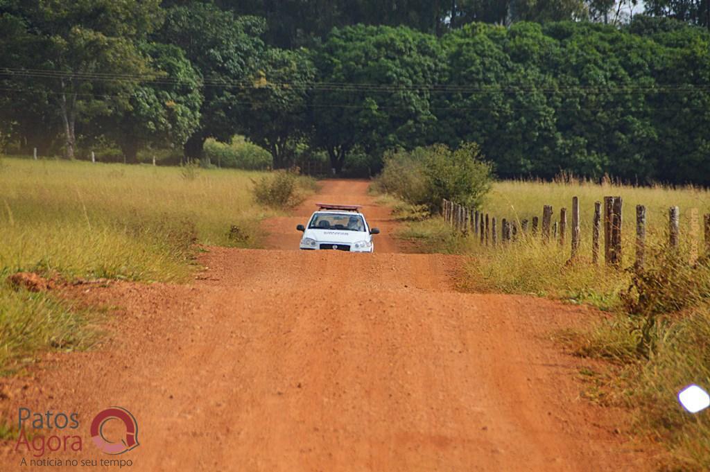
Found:
[[[543,241],[550,241],[554,238],[559,246],[567,245],[567,208],[559,210],[559,221],[552,221],[552,206],[542,207],[542,228],[541,235]],[[481,246],[508,246],[509,243],[518,239],[518,221],[510,219],[498,219],[496,216],[488,214],[481,209],[471,210],[461,204],[444,199],[442,202],[442,217],[444,221],[464,236],[473,236],[480,241]],[[670,248],[679,247],[680,236],[680,209],[670,207],[668,209],[668,246]],[[500,225],[498,223],[500,222]],[[581,241],[579,217],[579,198],[572,197],[572,226],[569,228],[570,260],[579,255],[579,243]],[[635,227],[635,267],[643,268],[645,264],[646,252],[646,207],[636,205],[636,227]],[[520,234],[537,236],[540,219],[532,216],[530,219],[521,219]],[[500,226],[500,239],[498,239],[498,229]],[[692,237],[699,229],[696,223]],[[599,250],[601,246],[600,238],[603,237],[604,263],[611,267],[621,268],[623,262],[622,248],[623,234],[623,199],[621,197],[608,196],[602,202],[594,202],[594,217],[592,219],[591,234],[591,261],[599,264]],[[710,254],[710,213],[703,218],[703,234],[705,239],[705,251]],[[697,241],[697,239],[695,240]],[[695,246],[697,248],[697,245]],[[696,251],[697,253],[697,251]]]

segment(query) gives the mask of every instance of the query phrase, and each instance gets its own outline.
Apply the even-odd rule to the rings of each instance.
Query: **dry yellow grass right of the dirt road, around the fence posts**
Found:
[[[621,196],[623,208],[623,265],[621,269],[591,263],[594,202],[606,195]],[[571,303],[591,304],[613,314],[588,331],[553,334],[557,342],[579,356],[604,358],[608,369],[585,372],[594,401],[625,405],[633,411],[636,431],[667,446],[663,470],[710,470],[710,423],[704,415],[689,415],[675,395],[689,383],[710,388],[710,260],[704,251],[702,229],[692,231],[690,210],[710,213],[710,192],[694,188],[626,187],[565,182],[496,182],[484,211],[498,219],[531,219],[542,207],[572,207],[579,197],[581,247],[574,263],[567,243],[543,243],[524,237],[496,248],[464,237],[438,217],[410,221],[399,236],[427,252],[471,256],[461,286],[484,292],[525,293]],[[395,203],[391,197],[383,197]],[[635,206],[644,204],[648,219],[648,260],[633,270]],[[398,214],[410,219],[416,212],[399,203]],[[668,208],[680,207],[679,251],[667,246]],[[571,220],[568,221],[571,224]],[[500,236],[499,236],[500,238]],[[699,246],[699,263],[689,265],[692,241]],[[603,246],[603,243],[602,243]]]

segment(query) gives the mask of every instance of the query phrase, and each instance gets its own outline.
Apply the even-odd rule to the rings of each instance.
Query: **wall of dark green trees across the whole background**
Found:
[[[0,143],[132,162],[241,134],[337,172],[477,143],[502,177],[710,185],[710,12],[634,5],[0,0]]]

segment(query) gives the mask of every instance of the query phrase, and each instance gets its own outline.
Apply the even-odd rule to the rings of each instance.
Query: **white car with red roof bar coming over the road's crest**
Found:
[[[318,211],[312,214],[307,226],[299,224],[303,232],[300,248],[305,251],[329,249],[351,253],[375,251],[373,234],[377,228],[368,226],[365,216],[356,205],[332,205],[318,203]]]

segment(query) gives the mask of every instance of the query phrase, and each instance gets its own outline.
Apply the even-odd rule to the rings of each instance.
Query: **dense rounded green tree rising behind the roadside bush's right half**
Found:
[[[535,23],[510,29],[474,23],[444,43],[447,89],[436,97],[442,141],[479,143],[504,177],[554,175],[555,103],[547,90],[555,82],[539,62],[556,54],[555,41]]]

